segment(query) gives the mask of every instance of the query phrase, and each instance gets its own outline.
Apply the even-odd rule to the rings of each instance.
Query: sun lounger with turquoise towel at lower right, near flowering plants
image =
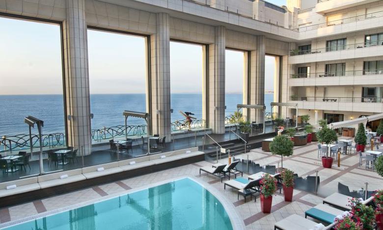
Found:
[[[343,213],[343,210],[339,210],[326,204],[318,204],[305,211],[304,217],[309,216],[321,222],[332,224],[334,223],[335,217],[342,215]]]

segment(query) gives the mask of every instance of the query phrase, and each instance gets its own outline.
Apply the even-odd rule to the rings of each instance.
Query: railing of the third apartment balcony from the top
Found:
[[[382,45],[383,45],[383,40],[381,40],[381,41],[374,41],[374,42],[356,43],[356,44],[343,45],[343,46],[311,49],[311,50],[302,50],[302,51],[292,50],[290,52],[290,56],[307,55],[307,54],[318,54],[318,53],[332,52],[332,51],[342,51],[342,50],[355,50],[355,49],[359,49],[359,48],[366,48],[366,47],[373,47],[373,46],[382,46]]]

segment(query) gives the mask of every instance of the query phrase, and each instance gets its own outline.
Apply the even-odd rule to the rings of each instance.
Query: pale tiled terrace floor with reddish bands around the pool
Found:
[[[260,148],[252,149],[249,158],[261,165],[276,165],[280,157],[271,153],[263,152]],[[246,159],[246,155],[242,155]],[[222,159],[221,162],[226,162]],[[273,230],[274,223],[291,215],[298,214],[304,217],[304,211],[316,204],[322,203],[323,197],[337,191],[338,182],[344,183],[350,187],[350,190],[359,189],[364,186],[366,181],[369,182],[368,190],[382,188],[383,178],[377,173],[366,171],[364,166],[359,167],[359,156],[351,154],[342,155],[341,169],[324,169],[321,165],[315,164],[319,162],[317,158],[317,143],[307,144],[294,148],[294,155],[284,158],[283,166],[292,169],[299,176],[315,175],[315,171],[319,171],[320,188],[318,196],[304,191],[294,190],[293,202],[285,202],[283,194],[277,194],[273,198],[273,207],[271,214],[261,212],[260,199],[257,201],[248,201],[244,203],[243,199],[237,200],[237,192],[234,189],[223,189],[223,183],[217,177],[201,174],[199,168],[202,166],[211,166],[212,163],[202,161],[182,167],[177,167],[157,173],[146,174],[126,180],[116,181],[114,183],[103,184],[96,187],[64,194],[56,197],[50,197],[43,200],[33,201],[17,206],[0,209],[0,223],[14,221],[25,218],[30,215],[52,211],[68,205],[78,204],[93,199],[99,199],[108,195],[121,192],[129,192],[132,188],[142,186],[150,186],[160,181],[179,178],[180,176],[189,176],[195,180],[208,183],[217,189],[223,199],[233,203],[236,211],[243,218],[248,230]],[[246,177],[247,174],[244,174]]]

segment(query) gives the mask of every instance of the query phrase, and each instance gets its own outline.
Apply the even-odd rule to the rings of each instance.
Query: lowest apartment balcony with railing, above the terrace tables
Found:
[[[383,101],[378,97],[298,97],[298,109],[383,113]]]

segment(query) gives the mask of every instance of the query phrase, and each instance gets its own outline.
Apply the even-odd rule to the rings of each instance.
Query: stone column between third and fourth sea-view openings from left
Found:
[[[225,133],[225,28],[215,28],[215,43],[209,45],[209,127]]]

